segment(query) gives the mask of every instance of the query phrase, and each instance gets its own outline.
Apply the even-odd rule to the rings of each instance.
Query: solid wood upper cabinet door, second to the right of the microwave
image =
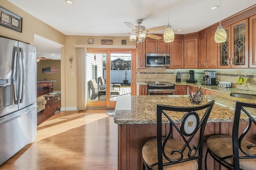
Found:
[[[198,38],[184,40],[184,68],[198,68]]]

